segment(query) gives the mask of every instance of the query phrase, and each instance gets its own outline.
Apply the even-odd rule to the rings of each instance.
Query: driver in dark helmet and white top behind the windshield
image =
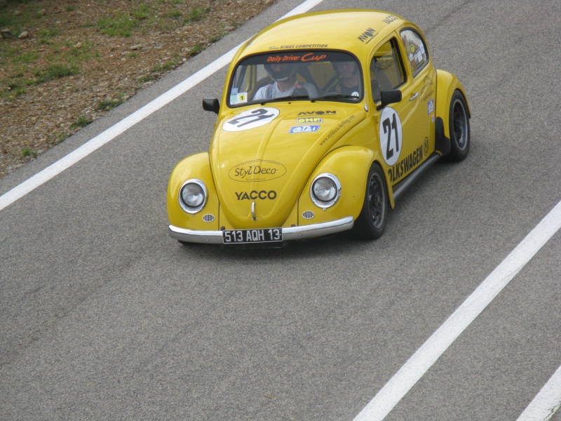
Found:
[[[273,79],[273,83],[259,88],[253,100],[272,100],[288,96],[308,95],[310,98],[318,96],[315,86],[311,83],[296,81],[296,67],[291,63],[273,63],[264,65],[265,70]]]

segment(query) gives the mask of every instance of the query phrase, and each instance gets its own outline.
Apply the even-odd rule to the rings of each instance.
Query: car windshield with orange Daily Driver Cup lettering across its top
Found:
[[[363,77],[356,58],[340,51],[298,50],[241,60],[229,83],[228,105],[362,98]]]

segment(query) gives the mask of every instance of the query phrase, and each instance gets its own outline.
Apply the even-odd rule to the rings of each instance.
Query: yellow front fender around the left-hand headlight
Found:
[[[185,212],[179,202],[179,192],[183,183],[191,178],[201,180],[207,189],[205,206],[198,213]],[[182,159],[170,175],[168,182],[168,219],[175,227],[196,230],[217,230],[219,202],[216,194],[208,152],[201,152]]]

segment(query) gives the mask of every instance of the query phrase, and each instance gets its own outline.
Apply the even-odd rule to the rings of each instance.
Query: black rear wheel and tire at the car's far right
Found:
[[[466,100],[455,91],[450,101],[450,161],[464,161],[470,144],[469,114]]]

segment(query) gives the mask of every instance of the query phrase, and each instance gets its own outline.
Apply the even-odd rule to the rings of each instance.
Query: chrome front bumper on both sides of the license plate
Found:
[[[354,225],[352,216],[321,224],[304,225],[303,227],[283,228],[283,241],[313,239],[318,236],[346,231]],[[170,225],[171,238],[186,243],[222,244],[222,231],[194,231]]]

